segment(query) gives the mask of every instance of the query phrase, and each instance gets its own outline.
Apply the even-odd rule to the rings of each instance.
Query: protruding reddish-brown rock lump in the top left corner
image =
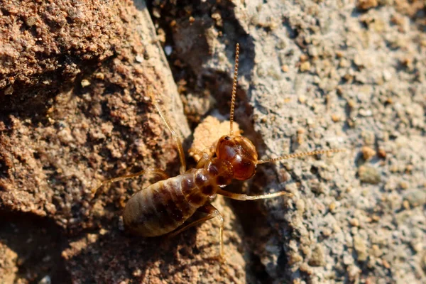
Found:
[[[2,1],[1,110],[49,107],[58,89],[116,55],[130,18],[110,8],[102,1]]]

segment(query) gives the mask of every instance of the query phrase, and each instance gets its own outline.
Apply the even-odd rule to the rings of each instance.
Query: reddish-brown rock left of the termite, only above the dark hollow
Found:
[[[174,104],[176,92],[173,83],[170,88],[167,63],[148,40],[149,28],[141,26],[149,18],[144,19],[131,1],[5,7],[8,12],[2,18],[11,23],[9,38],[16,40],[2,45],[9,46],[10,55],[1,65],[6,75],[2,89],[13,86],[18,92],[2,95],[9,106],[0,121],[2,207],[48,215],[70,231],[90,227],[99,222],[98,217],[93,219],[99,213],[94,202],[115,202],[120,207],[126,190],[131,194],[139,188],[137,183],[121,190],[114,185],[108,195],[92,200],[90,189],[99,180],[147,165],[167,169],[177,160],[148,95],[150,87],[166,108],[173,104],[177,116],[171,118],[173,125],[186,136],[187,124],[181,104]],[[23,28],[28,18],[41,40]],[[15,53],[19,56],[11,56]],[[58,61],[71,55],[75,61]],[[85,70],[87,65],[92,69]],[[64,70],[71,66],[79,71],[68,76]],[[40,77],[55,82],[55,87],[45,87]],[[43,90],[40,97],[38,88]],[[22,94],[31,97],[29,101],[42,99],[43,107],[18,103]]]

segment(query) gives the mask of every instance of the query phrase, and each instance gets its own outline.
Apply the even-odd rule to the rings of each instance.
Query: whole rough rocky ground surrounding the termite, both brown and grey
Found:
[[[1,2],[1,281],[426,282],[424,1],[148,9]],[[126,200],[150,180],[118,182],[96,198],[90,190],[148,166],[178,174],[148,92],[190,148],[190,129],[229,115],[236,43],[236,121],[260,158],[346,152],[259,165],[253,180],[226,187],[294,196],[217,199],[229,258],[221,266],[212,258],[218,222],[173,239],[121,230]]]

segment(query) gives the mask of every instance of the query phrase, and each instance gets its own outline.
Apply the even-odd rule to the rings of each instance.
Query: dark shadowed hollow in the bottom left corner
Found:
[[[0,219],[0,246],[10,252],[11,263],[0,274],[11,275],[13,283],[37,283],[41,279],[70,283],[61,259],[64,241],[60,226],[28,213],[0,212]],[[0,275],[1,280],[4,278]]]

